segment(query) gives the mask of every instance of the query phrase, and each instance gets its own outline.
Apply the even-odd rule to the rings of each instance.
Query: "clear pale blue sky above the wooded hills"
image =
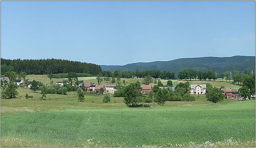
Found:
[[[255,1],[1,1],[2,58],[255,56]]]

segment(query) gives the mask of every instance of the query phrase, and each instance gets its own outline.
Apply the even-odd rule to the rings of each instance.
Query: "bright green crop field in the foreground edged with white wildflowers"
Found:
[[[1,147],[197,144],[255,147],[255,100],[151,108],[59,108],[1,116]]]

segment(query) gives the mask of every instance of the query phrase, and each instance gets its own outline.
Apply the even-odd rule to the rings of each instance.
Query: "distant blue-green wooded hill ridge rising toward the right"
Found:
[[[226,71],[237,70],[239,72],[255,70],[255,56],[232,56],[232,57],[201,57],[201,58],[179,58],[170,61],[138,62],[132,64],[100,65],[102,70],[166,70],[175,72],[176,76],[180,70],[193,68],[195,70],[216,70],[218,76]]]

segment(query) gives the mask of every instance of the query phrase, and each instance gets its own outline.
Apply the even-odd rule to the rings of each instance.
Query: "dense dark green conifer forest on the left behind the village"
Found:
[[[27,74],[59,74],[59,73],[88,73],[96,75],[101,67],[96,64],[61,59],[4,59],[1,58],[1,73],[15,71]]]

